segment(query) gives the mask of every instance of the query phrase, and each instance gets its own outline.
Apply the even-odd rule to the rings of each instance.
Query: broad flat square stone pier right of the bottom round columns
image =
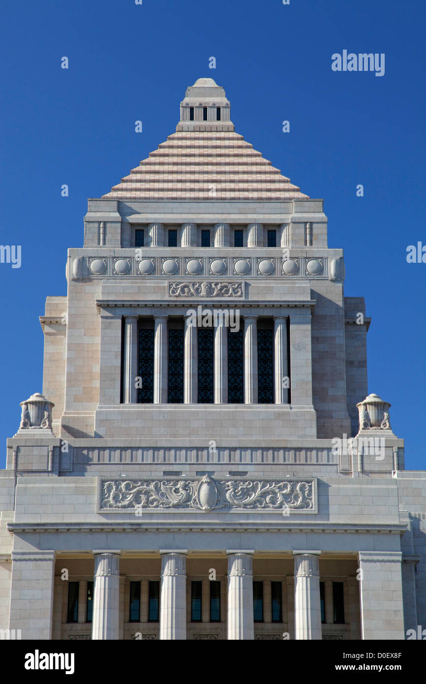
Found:
[[[358,553],[362,639],[405,639],[401,559],[401,551]]]

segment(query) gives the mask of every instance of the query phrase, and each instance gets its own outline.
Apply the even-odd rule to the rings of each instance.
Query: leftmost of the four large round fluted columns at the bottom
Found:
[[[93,640],[120,638],[120,553],[93,552]]]

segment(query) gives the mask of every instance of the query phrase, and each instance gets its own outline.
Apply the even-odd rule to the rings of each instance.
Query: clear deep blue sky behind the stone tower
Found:
[[[290,1],[3,3],[0,244],[21,245],[22,265],[0,264],[0,466],[19,402],[42,389],[38,316],[46,295],[66,294],[87,198],[174,132],[185,88],[207,76],[224,86],[237,132],[324,198],[345,294],[363,295],[373,318],[369,391],[392,404],[406,467],[426,468],[426,264],[405,260],[426,244],[425,3]],[[344,49],[385,53],[385,75],[333,72]]]

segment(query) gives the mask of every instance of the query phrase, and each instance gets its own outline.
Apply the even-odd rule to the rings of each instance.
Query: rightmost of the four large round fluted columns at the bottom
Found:
[[[321,551],[293,551],[295,639],[321,640],[320,554]]]

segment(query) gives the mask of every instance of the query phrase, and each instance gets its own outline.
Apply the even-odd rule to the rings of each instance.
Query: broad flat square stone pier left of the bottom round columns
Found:
[[[54,573],[55,551],[12,551],[10,638],[51,640]]]

